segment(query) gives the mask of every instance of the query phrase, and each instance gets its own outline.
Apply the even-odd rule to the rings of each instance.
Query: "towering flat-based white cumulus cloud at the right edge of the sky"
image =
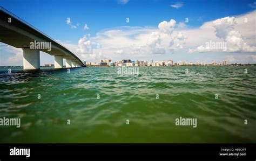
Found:
[[[251,23],[255,23],[255,17],[253,18],[251,15],[255,14],[255,11],[252,13],[248,13],[247,17],[250,17]],[[243,16],[244,17],[244,16]],[[238,19],[238,21],[237,21]],[[242,36],[241,32],[235,28],[239,22],[239,29],[242,30],[243,33],[250,32],[250,37],[253,36],[254,42],[249,45],[246,42],[244,36]],[[241,26],[243,29],[241,29]],[[254,24],[255,26],[255,24]],[[207,45],[199,45],[198,47],[188,50],[188,53],[192,52],[256,52],[255,45],[255,28],[252,29],[250,24],[245,22],[245,19],[241,21],[241,18],[238,17],[224,17],[212,22],[207,22],[203,26],[200,27],[201,34],[208,32],[214,32],[215,36],[207,36],[207,39],[204,44],[207,44],[208,41],[215,41],[215,43],[226,43],[227,48],[224,50],[223,48],[209,48]],[[250,29],[250,30],[247,30]],[[247,30],[247,31],[245,31]],[[254,31],[254,33],[253,33]],[[248,36],[248,34],[247,34]]]

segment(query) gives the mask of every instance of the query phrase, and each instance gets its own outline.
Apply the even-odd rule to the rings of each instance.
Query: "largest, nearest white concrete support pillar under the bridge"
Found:
[[[23,48],[23,68],[40,69],[40,51],[30,48]]]

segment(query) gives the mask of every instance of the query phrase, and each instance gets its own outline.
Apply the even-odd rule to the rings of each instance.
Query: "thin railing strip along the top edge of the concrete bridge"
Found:
[[[3,12],[5,12],[5,13],[7,13],[8,15],[11,15],[12,17],[16,18],[16,19],[19,20],[20,22],[22,22],[22,23],[28,25],[28,26],[31,27],[32,29],[34,29],[34,30],[36,30],[37,32],[43,34],[45,37],[50,38],[50,39],[51,39],[52,41],[54,41],[55,43],[57,43],[58,45],[64,47],[66,50],[68,50],[68,48],[66,48],[66,47],[63,46],[62,44],[58,43],[58,41],[55,41],[53,38],[51,38],[50,36],[48,36],[46,33],[44,33],[44,32],[42,32],[42,31],[38,30],[35,26],[32,26],[31,24],[29,24],[29,23],[26,22],[25,20],[19,18],[19,17],[16,16],[14,13],[12,13],[12,12],[6,10],[6,9],[3,8],[2,6],[0,6],[0,10],[3,11]],[[70,53],[72,53],[70,50],[68,50],[68,51],[69,51]],[[74,54],[74,53],[73,53],[73,54]],[[75,55],[75,54],[74,54],[74,55]],[[75,55],[75,56],[76,56],[76,55]],[[76,56],[76,57],[77,57],[77,56]],[[79,58],[78,58],[78,60],[79,60]],[[80,60],[80,61],[81,61],[81,60]],[[82,62],[82,61],[81,61],[81,62]]]

